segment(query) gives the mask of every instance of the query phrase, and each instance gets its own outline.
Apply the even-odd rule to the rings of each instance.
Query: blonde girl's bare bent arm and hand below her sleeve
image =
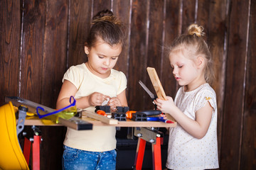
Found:
[[[210,106],[209,102],[206,102],[205,106],[196,111],[196,120],[193,120],[188,118],[187,115],[174,105],[174,101],[171,97],[167,97],[167,99],[167,101],[163,101],[159,98],[156,99],[156,105],[159,110],[164,113],[169,113],[178,124],[193,137],[201,139],[206,135],[213,114],[213,108]]]

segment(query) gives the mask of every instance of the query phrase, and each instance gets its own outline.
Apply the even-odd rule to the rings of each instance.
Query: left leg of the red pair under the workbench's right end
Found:
[[[134,162],[136,170],[142,169],[145,147],[146,147],[146,140],[142,140],[141,138],[139,138],[135,162]]]

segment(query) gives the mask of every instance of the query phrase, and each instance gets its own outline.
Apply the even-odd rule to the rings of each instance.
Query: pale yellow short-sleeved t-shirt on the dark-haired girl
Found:
[[[94,92],[99,92],[112,98],[127,88],[127,79],[124,73],[111,69],[110,76],[102,79],[92,74],[85,63],[70,67],[64,74],[64,80],[70,81],[78,89],[75,98],[88,96]],[[85,109],[95,112],[95,107]],[[115,133],[114,127],[107,126],[93,126],[92,130],[73,130],[68,128],[64,145],[86,151],[105,152],[116,148]]]

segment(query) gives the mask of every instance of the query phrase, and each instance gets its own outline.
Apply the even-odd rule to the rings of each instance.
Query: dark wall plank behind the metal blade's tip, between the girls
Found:
[[[139,80],[146,79],[147,27],[149,1],[132,1],[131,40],[129,45],[129,80],[127,82],[127,99],[132,111],[145,108],[145,92],[139,86]],[[147,84],[146,84],[147,86]],[[152,105],[152,107],[154,107]]]

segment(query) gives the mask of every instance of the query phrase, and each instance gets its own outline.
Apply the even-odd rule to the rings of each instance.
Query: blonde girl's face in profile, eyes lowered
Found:
[[[180,86],[186,86],[186,91],[196,89],[202,83],[201,67],[188,59],[186,50],[173,50],[169,55],[173,74]]]

